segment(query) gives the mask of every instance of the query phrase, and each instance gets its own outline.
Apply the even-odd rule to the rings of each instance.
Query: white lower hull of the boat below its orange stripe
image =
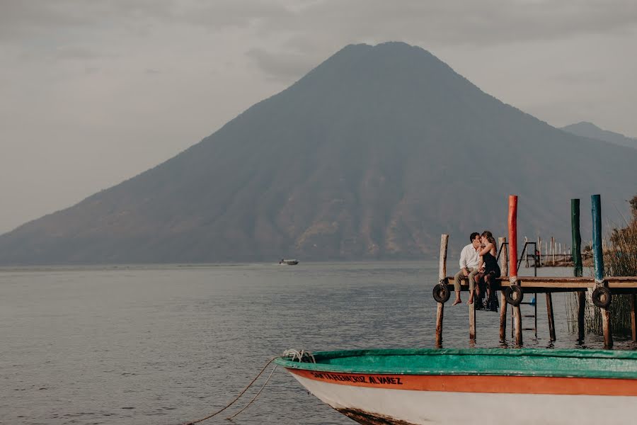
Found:
[[[316,397],[361,424],[637,423],[633,396],[399,390],[326,382],[289,372]]]

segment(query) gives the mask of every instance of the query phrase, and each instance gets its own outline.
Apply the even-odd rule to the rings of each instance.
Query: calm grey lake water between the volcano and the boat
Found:
[[[286,348],[432,347],[436,280],[436,261],[0,269],[0,424],[180,424],[223,407]],[[551,344],[540,295],[524,346],[580,347],[565,300],[553,295]],[[477,323],[475,346],[500,346],[499,314]],[[447,303],[444,346],[468,335],[466,306]],[[602,344],[590,335],[585,348]],[[203,424],[228,424],[258,387]],[[354,424],[280,369],[233,421]]]

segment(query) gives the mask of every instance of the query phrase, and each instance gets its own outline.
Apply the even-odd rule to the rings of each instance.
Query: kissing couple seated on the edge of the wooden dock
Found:
[[[488,230],[479,234],[471,233],[471,244],[465,246],[460,253],[460,271],[454,276],[454,290],[456,300],[454,305],[462,302],[460,299],[460,280],[469,280],[469,301],[475,301],[476,310],[498,311],[498,298],[495,297],[495,279],[500,277],[500,266],[495,256],[498,247],[495,238]]]

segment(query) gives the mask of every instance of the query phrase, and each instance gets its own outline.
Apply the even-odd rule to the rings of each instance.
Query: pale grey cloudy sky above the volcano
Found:
[[[635,0],[0,0],[0,233],[386,41],[556,127],[637,137]]]

